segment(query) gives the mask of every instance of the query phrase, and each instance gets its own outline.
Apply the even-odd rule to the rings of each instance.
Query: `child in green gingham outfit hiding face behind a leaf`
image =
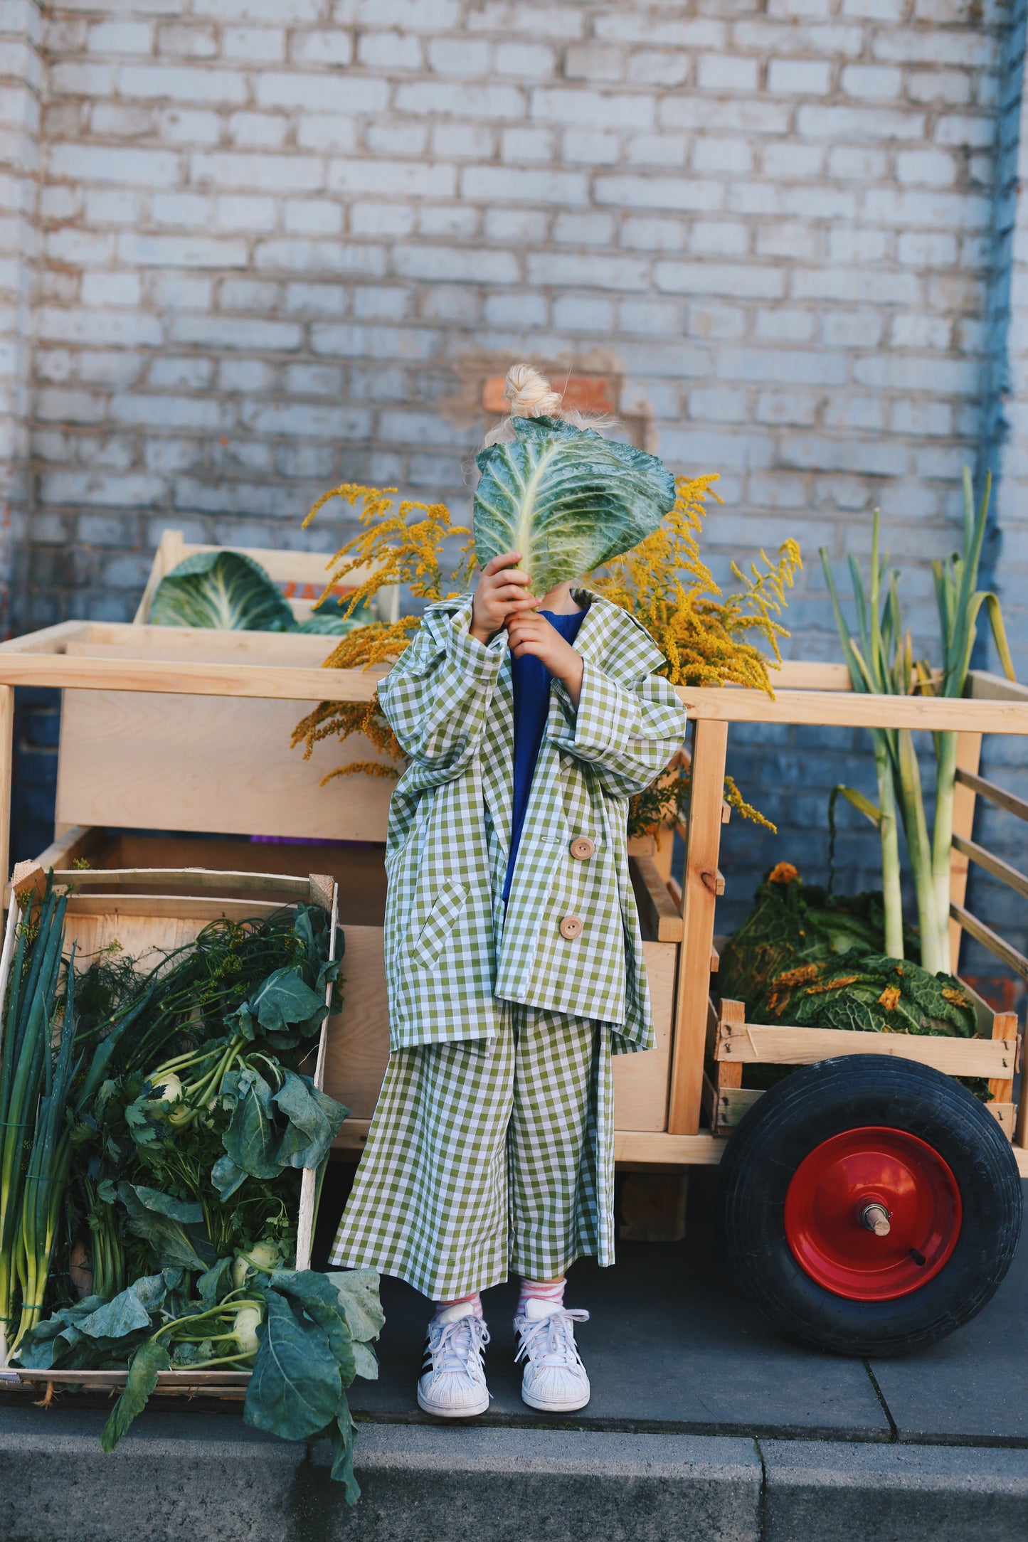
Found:
[[[507,398],[583,426],[529,365]],[[686,734],[649,634],[570,583],[536,598],[518,557],[430,606],[379,688],[410,762],[385,856],[391,1053],[333,1264],[432,1298],[418,1402],[442,1417],[489,1406],[479,1292],[509,1269],[524,1402],[589,1402],[564,1275],[613,1263],[610,1055],[653,1035],[627,805]]]

